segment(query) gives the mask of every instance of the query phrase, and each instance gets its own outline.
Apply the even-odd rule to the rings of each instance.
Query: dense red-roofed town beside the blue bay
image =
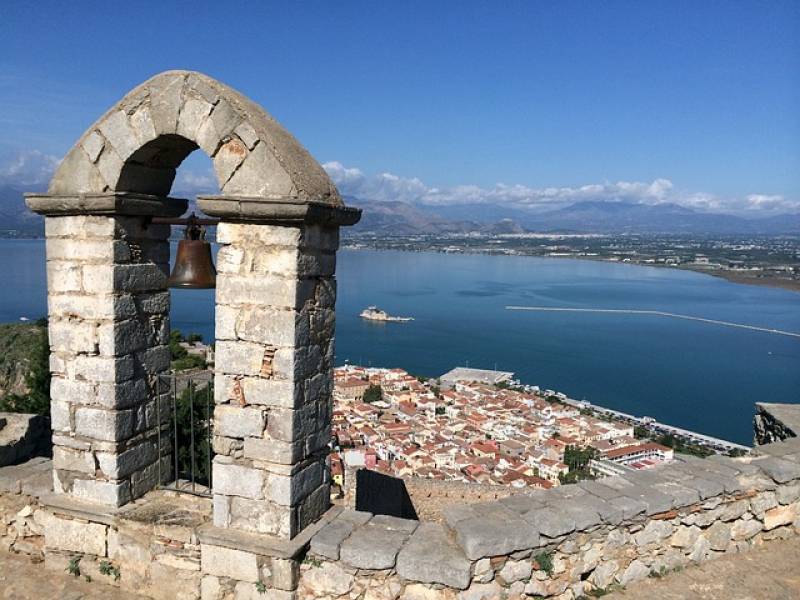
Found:
[[[438,380],[357,365],[334,371],[332,478],[395,477],[551,488],[673,460],[622,419],[599,418],[513,373],[455,368]]]

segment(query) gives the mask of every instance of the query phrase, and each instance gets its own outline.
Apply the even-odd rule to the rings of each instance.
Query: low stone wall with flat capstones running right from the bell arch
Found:
[[[800,440],[451,506],[444,523],[345,511],[316,534],[301,598],[602,594],[800,533]]]

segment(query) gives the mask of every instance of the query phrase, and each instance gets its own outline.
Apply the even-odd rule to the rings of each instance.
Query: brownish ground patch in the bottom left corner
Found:
[[[0,598],[3,600],[141,600],[145,596],[123,592],[100,581],[86,581],[48,571],[27,556],[0,552]]]

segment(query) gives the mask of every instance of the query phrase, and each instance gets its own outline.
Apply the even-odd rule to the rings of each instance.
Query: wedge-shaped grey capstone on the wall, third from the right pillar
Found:
[[[466,589],[471,562],[438,523],[422,523],[397,556],[397,574],[409,581]]]

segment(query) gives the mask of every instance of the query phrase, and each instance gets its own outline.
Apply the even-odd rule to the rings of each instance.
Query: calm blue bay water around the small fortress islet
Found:
[[[0,321],[46,312],[44,243],[0,240]],[[800,332],[800,294],[631,265],[528,257],[341,251],[337,362],[440,375],[456,365],[734,441],[753,403],[800,402],[800,339],[646,315],[506,305],[663,310]],[[376,324],[376,304],[410,323]],[[213,291],[173,291],[173,327],[213,335]]]

